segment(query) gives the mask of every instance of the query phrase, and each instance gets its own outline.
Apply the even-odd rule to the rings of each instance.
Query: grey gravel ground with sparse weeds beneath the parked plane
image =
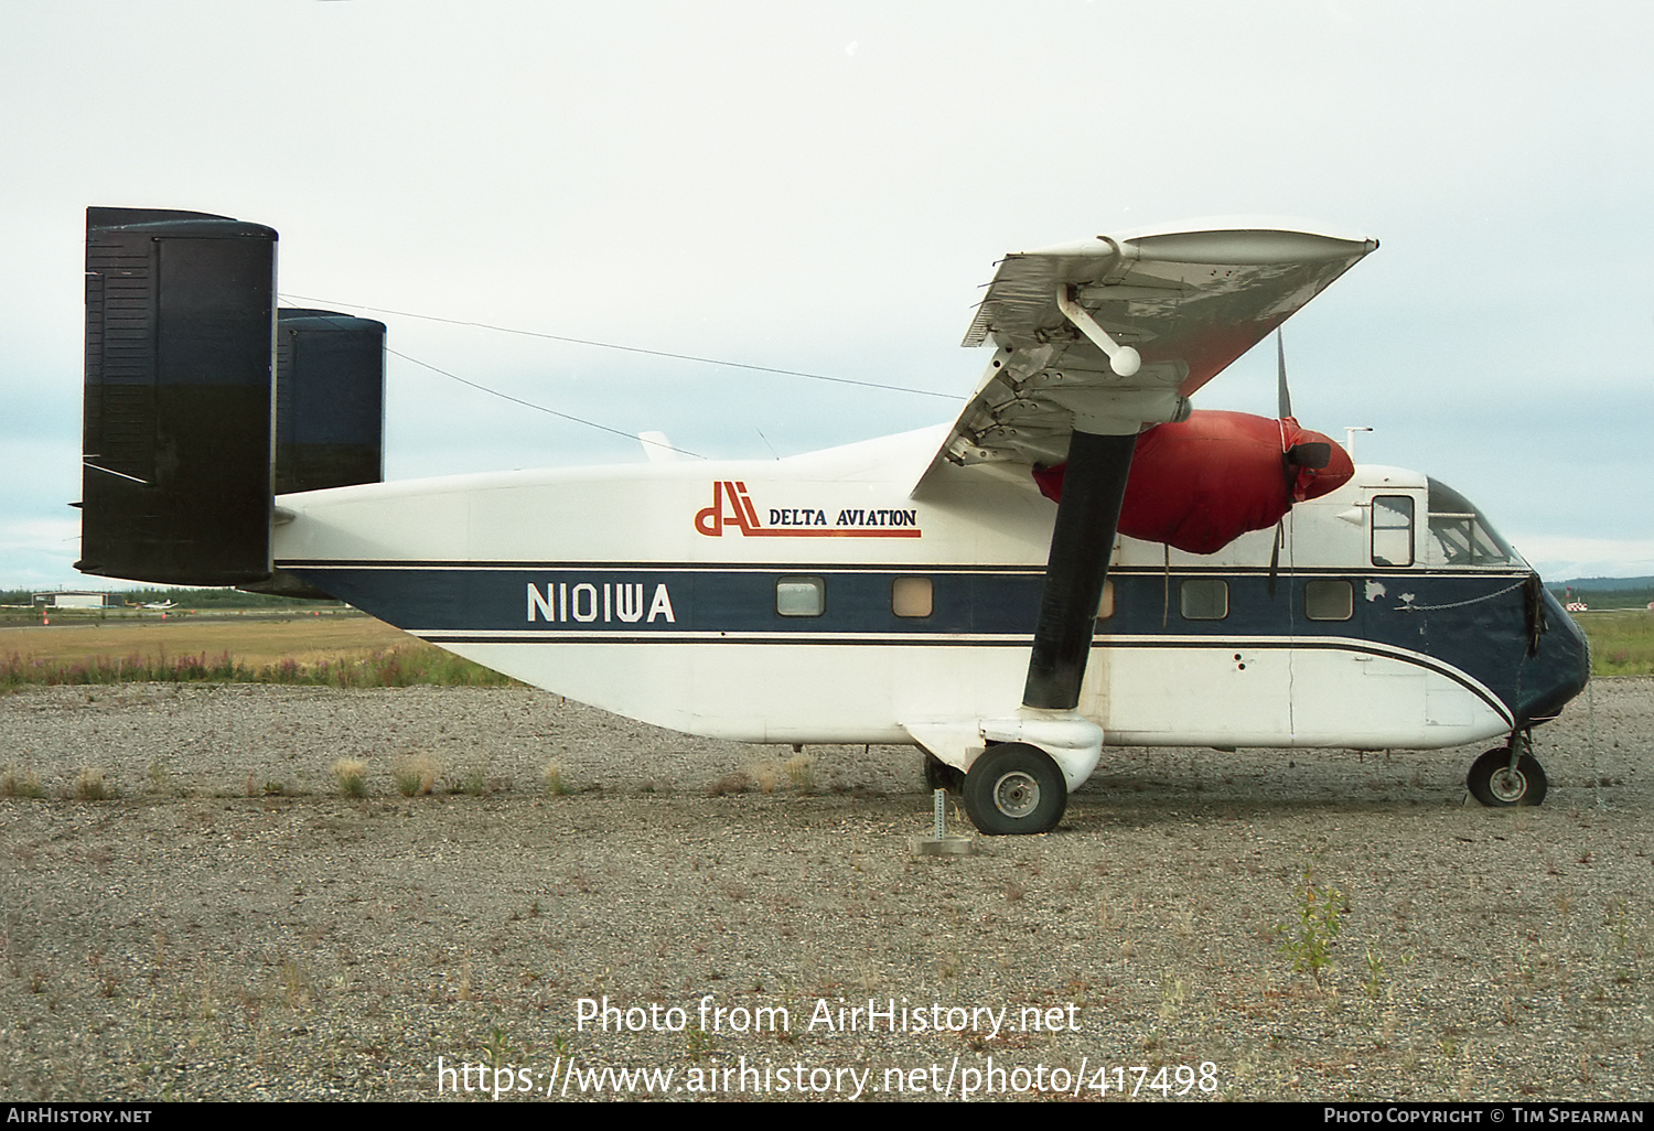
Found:
[[[936,860],[905,749],[526,690],[23,691],[0,1098],[1647,1101],[1654,681],[1540,733],[1542,809],[1465,804],[1477,752],[1110,751],[1059,832]]]

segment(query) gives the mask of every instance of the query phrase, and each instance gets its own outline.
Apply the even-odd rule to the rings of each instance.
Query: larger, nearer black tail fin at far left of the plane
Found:
[[[81,561],[103,577],[270,575],[276,233],[86,210]]]

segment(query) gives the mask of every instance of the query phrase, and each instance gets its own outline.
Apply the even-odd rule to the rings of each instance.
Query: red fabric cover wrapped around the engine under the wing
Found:
[[[1285,451],[1297,443],[1325,443],[1331,460],[1320,471],[1288,468]],[[1045,498],[1062,498],[1065,468],[1059,463],[1034,470]],[[1350,453],[1300,428],[1292,417],[1194,412],[1183,423],[1156,425],[1138,437],[1120,532],[1214,554],[1247,531],[1269,529],[1293,503],[1335,491],[1353,475]]]

